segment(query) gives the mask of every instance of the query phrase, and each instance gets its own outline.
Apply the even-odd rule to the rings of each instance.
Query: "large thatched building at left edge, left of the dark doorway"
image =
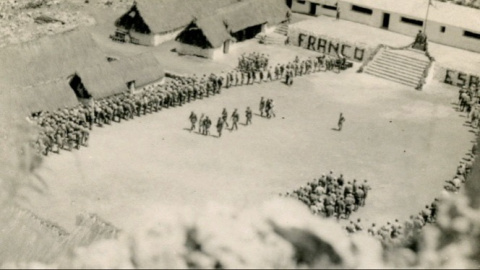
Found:
[[[22,113],[78,104],[68,77],[79,67],[107,61],[84,30],[2,48],[0,59],[4,97]]]

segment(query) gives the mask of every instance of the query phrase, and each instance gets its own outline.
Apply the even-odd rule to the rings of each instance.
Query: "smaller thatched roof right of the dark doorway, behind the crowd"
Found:
[[[149,53],[102,63],[77,70],[88,93],[95,99],[123,93],[127,83],[135,81],[137,87],[153,83],[164,77],[164,70]]]

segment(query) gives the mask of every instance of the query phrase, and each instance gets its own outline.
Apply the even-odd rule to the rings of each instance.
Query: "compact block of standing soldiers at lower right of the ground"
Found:
[[[367,180],[346,181],[342,174],[336,177],[330,172],[285,196],[300,200],[314,215],[349,219],[359,207],[365,206],[370,189]]]

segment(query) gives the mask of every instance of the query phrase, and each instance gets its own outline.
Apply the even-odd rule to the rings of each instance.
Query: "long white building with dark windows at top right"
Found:
[[[342,20],[415,36],[424,29],[428,0],[290,0],[292,11]],[[480,10],[432,1],[426,34],[432,42],[480,52]]]

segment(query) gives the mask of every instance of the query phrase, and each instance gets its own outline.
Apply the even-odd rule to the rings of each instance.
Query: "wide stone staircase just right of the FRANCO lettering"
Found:
[[[382,48],[364,68],[364,73],[416,88],[429,63],[421,51]]]

